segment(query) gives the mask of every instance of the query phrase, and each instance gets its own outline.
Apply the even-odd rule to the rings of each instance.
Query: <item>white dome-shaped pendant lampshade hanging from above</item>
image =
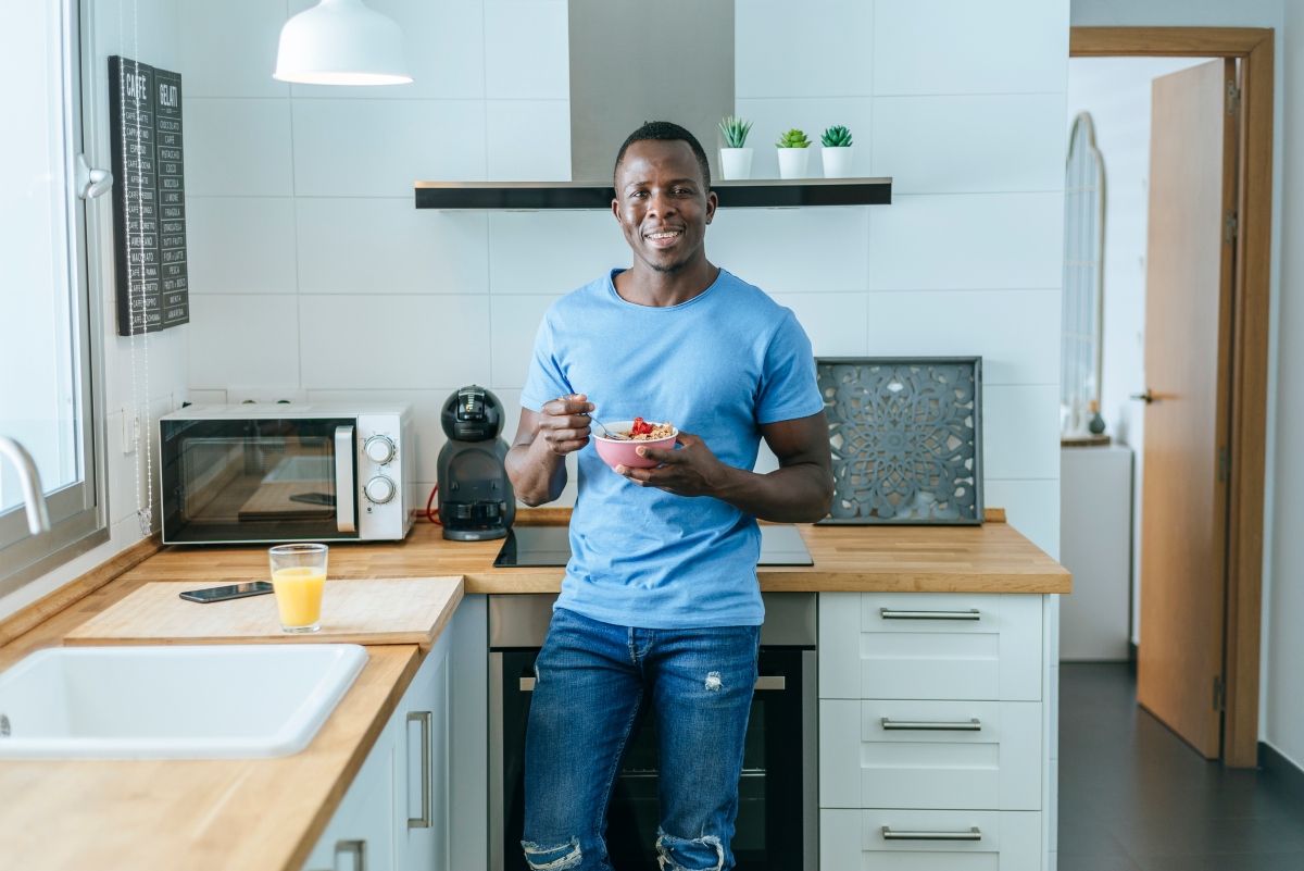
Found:
[[[321,0],[280,29],[273,78],[301,85],[411,82],[403,31],[363,0]]]

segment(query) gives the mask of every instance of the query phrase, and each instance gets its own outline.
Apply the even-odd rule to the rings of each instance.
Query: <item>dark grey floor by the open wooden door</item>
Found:
[[[1301,871],[1304,798],[1200,758],[1124,664],[1060,668],[1059,871]]]

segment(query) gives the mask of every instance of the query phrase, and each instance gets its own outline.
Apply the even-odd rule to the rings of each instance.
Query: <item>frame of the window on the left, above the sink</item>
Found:
[[[69,484],[46,499],[50,507],[50,532],[27,533],[22,506],[0,514],[0,596],[7,596],[51,570],[108,541],[108,476],[104,443],[103,390],[103,318],[104,280],[99,265],[102,244],[111,244],[112,224],[104,223],[111,198],[82,199],[76,190],[77,156],[85,155],[90,166],[107,166],[108,155],[98,154],[94,130],[99,129],[100,94],[95,89],[91,40],[94,23],[90,4],[85,0],[60,0],[63,20],[63,124],[67,146],[64,172],[72,203],[68,227],[67,265],[74,305],[72,347],[74,377],[81,402],[81,480]],[[83,63],[91,59],[90,64]],[[107,106],[107,100],[104,102]],[[104,119],[107,120],[107,119]],[[115,180],[116,184],[116,180]],[[102,228],[108,227],[107,239]]]

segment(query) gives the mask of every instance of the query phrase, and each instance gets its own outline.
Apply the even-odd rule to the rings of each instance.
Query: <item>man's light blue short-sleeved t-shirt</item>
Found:
[[[751,469],[760,425],[824,409],[811,344],[789,309],[720,270],[668,308],[621,299],[606,278],[548,309],[520,404],[587,394],[602,421],[670,421]],[[642,488],[589,442],[578,451],[571,559],[558,608],[643,628],[759,626],[760,528],[711,497]]]

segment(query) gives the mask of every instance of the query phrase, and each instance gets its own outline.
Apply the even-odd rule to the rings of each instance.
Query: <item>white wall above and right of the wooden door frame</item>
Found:
[[[1260,738],[1304,767],[1304,540],[1297,493],[1304,460],[1292,450],[1304,403],[1297,336],[1304,332],[1304,253],[1282,245],[1304,223],[1304,17],[1297,0],[1073,0],[1074,26],[1231,26],[1277,30],[1273,149],[1273,282],[1269,349],[1267,473],[1264,524],[1264,625]],[[1294,485],[1294,486],[1292,486]]]

